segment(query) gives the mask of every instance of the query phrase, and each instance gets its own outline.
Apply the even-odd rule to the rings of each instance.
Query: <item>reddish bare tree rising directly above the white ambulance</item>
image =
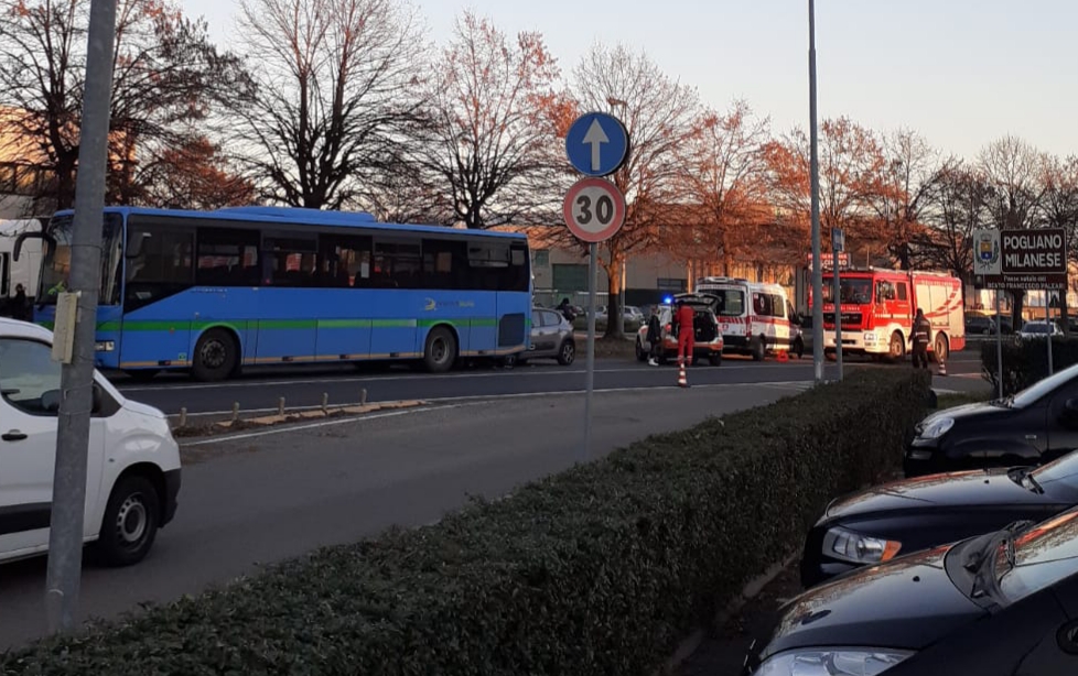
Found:
[[[698,205],[681,238],[687,258],[718,257],[724,274],[735,258],[759,251],[766,218],[767,160],[770,120],[756,117],[748,103],[735,101],[725,113],[707,110],[677,150],[683,171],[678,176],[683,199]]]

